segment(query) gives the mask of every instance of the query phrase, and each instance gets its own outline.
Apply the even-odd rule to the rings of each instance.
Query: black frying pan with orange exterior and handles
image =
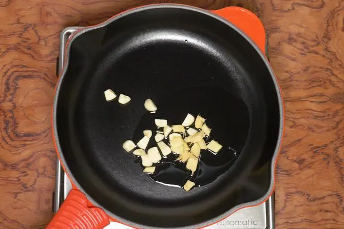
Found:
[[[103,228],[109,221],[199,228],[270,197],[283,106],[253,13],[143,6],[75,32],[66,53],[52,126],[73,190],[47,228]],[[107,88],[131,101],[106,102]],[[145,110],[147,98],[157,113]],[[189,192],[155,182],[122,149],[155,118],[181,123],[187,113],[206,117],[217,140],[236,152],[221,174]]]

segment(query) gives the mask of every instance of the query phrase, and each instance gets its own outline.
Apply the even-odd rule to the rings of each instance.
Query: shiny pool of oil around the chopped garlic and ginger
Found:
[[[222,149],[213,154],[208,150],[202,150],[197,170],[193,176],[185,168],[185,163],[176,161],[177,155],[171,153],[163,158],[160,163],[155,164],[156,171],[149,175],[155,181],[170,185],[183,186],[187,180],[192,180],[196,186],[202,186],[214,181],[219,175],[226,172],[234,164],[237,154],[240,153],[249,131],[249,111],[245,103],[236,96],[221,90],[218,87],[207,87],[207,94],[199,93],[203,88],[188,89],[187,92],[179,92],[163,99],[153,99],[156,102],[158,111],[155,114],[147,112],[138,124],[134,134],[134,140],[142,137],[143,130],[152,130],[152,138],[147,146],[155,147],[154,136],[157,127],[154,119],[167,119],[169,125],[181,124],[187,113],[197,116],[201,114],[206,118],[207,125],[212,128],[211,136],[206,142],[212,139],[223,145]],[[191,95],[195,102],[190,103],[185,98]],[[221,99],[218,99],[221,98]],[[164,140],[168,143],[168,139]],[[138,158],[138,163],[141,160]]]

